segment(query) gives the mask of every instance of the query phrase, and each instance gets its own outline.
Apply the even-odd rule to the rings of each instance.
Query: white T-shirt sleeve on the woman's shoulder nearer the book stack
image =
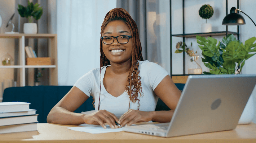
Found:
[[[81,78],[77,80],[74,84],[75,87],[79,88],[82,92],[84,92],[87,96],[90,97],[92,93],[92,71],[87,72]]]

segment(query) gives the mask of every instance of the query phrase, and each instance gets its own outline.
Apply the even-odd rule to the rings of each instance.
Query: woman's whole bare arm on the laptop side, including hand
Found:
[[[135,122],[142,121],[156,121],[156,122],[170,122],[174,109],[176,108],[180,90],[173,83],[169,75],[167,75],[155,88],[155,94],[171,109],[170,111],[138,111],[130,109],[120,117],[121,126],[132,125]]]

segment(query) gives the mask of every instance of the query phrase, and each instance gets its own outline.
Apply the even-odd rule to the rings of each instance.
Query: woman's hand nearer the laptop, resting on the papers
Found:
[[[154,114],[154,111],[152,112],[146,112],[146,111],[139,111],[130,109],[126,113],[124,113],[120,118],[119,121],[121,122],[121,127],[132,125],[136,122],[148,122],[152,120],[152,116]]]

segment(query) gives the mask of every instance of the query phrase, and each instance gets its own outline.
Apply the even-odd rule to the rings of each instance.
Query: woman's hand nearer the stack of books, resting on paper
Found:
[[[106,110],[99,110],[84,116],[84,122],[86,124],[101,125],[104,129],[106,129],[104,123],[107,123],[111,129],[117,129],[115,121],[118,124],[121,123],[113,113]]]

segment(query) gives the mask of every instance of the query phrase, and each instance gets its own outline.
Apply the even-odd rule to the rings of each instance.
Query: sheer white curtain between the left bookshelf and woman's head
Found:
[[[107,12],[115,0],[57,0],[58,84],[73,85],[99,68],[99,37]]]

